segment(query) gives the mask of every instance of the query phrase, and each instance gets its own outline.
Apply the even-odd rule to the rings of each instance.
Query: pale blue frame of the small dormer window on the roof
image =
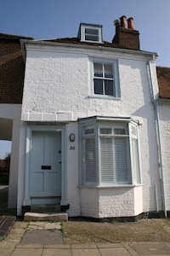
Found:
[[[86,34],[86,29],[97,30],[98,31],[98,40],[88,40],[88,39],[86,39],[86,35],[87,35]],[[81,24],[81,41],[82,42],[88,42],[88,43],[103,44],[102,26]]]

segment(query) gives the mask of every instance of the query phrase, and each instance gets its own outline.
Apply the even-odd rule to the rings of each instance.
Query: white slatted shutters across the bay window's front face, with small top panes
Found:
[[[125,129],[100,128],[100,134],[101,183],[130,183],[128,137],[121,137],[126,134]],[[112,137],[105,137],[108,134]]]

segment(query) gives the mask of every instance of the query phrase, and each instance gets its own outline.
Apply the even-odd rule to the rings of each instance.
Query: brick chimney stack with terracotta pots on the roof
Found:
[[[134,29],[133,17],[129,19],[123,15],[119,20],[115,20],[116,34],[112,44],[118,44],[117,47],[125,49],[139,50],[139,31]]]

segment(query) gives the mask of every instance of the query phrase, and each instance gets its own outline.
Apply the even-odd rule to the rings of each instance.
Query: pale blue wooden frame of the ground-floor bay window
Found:
[[[102,121],[101,119],[94,118],[92,120],[92,122],[87,122],[86,120],[81,120],[80,121],[80,127],[79,127],[79,131],[80,131],[80,147],[82,148],[82,139],[85,139],[85,137],[87,137],[86,135],[82,134],[82,130],[84,129],[84,126],[86,126],[88,128],[89,127],[94,127],[94,134],[93,137],[95,137],[95,159],[96,159],[96,165],[95,165],[95,172],[96,172],[96,180],[92,183],[87,183],[84,180],[84,172],[86,172],[83,169],[82,166],[82,158],[83,158],[83,152],[82,149],[80,150],[80,186],[85,186],[85,187],[131,187],[131,186],[139,186],[142,184],[142,177],[141,177],[141,165],[140,165],[140,154],[139,154],[139,127],[138,124],[133,122],[131,119],[123,119],[123,120],[117,120],[117,119],[111,119],[111,120],[107,120],[107,119],[103,119]],[[135,127],[136,129],[136,135],[132,134],[132,126]],[[105,128],[109,128],[111,127],[111,129],[114,128],[122,128],[122,129],[126,129],[126,134],[121,134],[121,135],[107,135],[105,134],[105,136],[103,134],[100,134],[100,128],[105,127]],[[113,181],[110,182],[102,182],[102,170],[101,170],[101,155],[100,155],[100,138],[101,137],[112,137],[114,140],[114,137],[122,137],[126,139],[126,143],[127,143],[127,147],[126,150],[128,151],[127,153],[127,182],[116,182],[116,179],[114,179]],[[135,154],[133,153],[133,143],[132,143],[132,139],[135,138],[136,142],[137,142],[137,151],[135,152]],[[134,156],[137,157],[137,161],[134,161],[133,158]],[[135,165],[134,163],[138,163],[138,170],[135,170]],[[114,172],[114,171],[113,171]],[[136,172],[138,172],[138,175],[136,174]],[[125,172],[126,175],[126,172]],[[137,177],[138,176],[138,180]]]

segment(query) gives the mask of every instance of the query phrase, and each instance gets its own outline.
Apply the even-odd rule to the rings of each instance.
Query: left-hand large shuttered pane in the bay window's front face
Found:
[[[114,183],[112,138],[100,139],[101,182]]]

